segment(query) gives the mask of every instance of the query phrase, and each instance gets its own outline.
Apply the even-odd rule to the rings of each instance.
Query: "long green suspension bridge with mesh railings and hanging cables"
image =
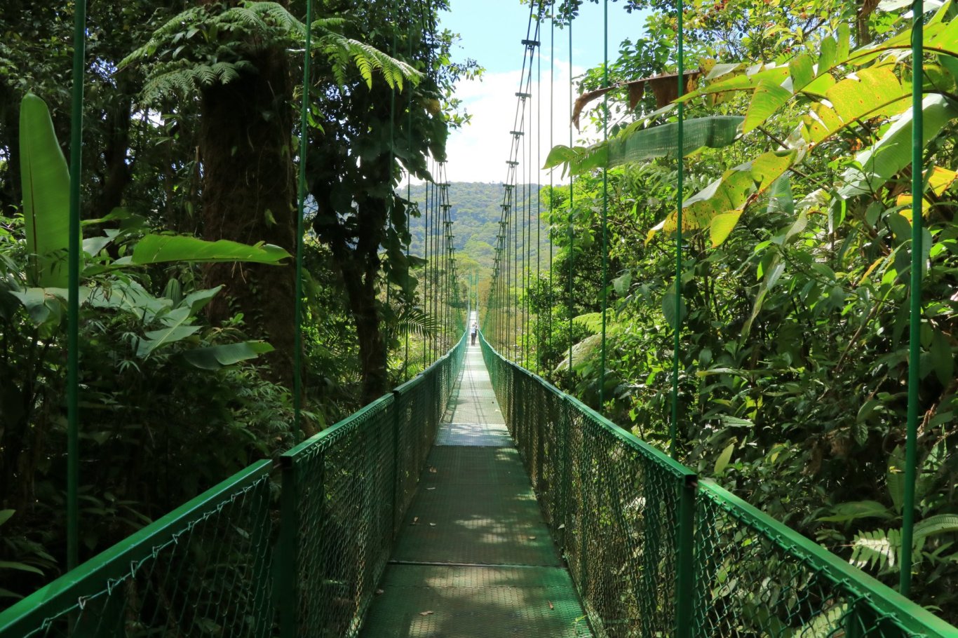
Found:
[[[541,233],[538,201],[534,212],[532,195],[517,194],[520,155],[528,158],[526,185],[533,182],[532,135],[524,135],[544,21],[542,6],[532,19],[535,7],[482,314],[471,308],[468,322],[446,314],[441,329],[458,341],[421,375],[13,604],[0,613],[0,638],[958,636],[514,362],[529,360],[529,309],[516,291],[533,278],[533,220],[536,243]],[[681,5],[678,15],[681,95]],[[82,11],[77,19],[81,39]],[[304,105],[304,129],[306,117]],[[429,275],[434,299],[456,277],[443,181],[427,230],[433,261],[437,253],[447,260]],[[679,163],[678,201],[681,184]],[[301,221],[304,196],[301,188]],[[72,223],[79,228],[79,216]],[[680,218],[677,228],[676,280]],[[536,279],[538,270],[536,262]],[[75,324],[76,308],[71,314]],[[605,308],[603,368],[604,316]],[[464,330],[477,320],[486,331],[473,346]],[[678,338],[675,330],[676,351]],[[76,441],[76,394],[70,400]],[[297,377],[297,413],[300,400]],[[673,427],[676,420],[673,413]]]

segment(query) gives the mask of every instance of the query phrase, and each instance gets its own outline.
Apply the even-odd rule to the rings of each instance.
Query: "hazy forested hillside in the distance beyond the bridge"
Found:
[[[525,187],[525,188],[524,188]],[[525,190],[532,195],[531,206],[527,211],[531,211],[530,219],[532,223],[532,260],[536,261],[536,192],[538,186],[520,184],[516,191],[523,193]],[[403,190],[401,192],[405,194]],[[430,191],[431,196],[431,191]],[[452,182],[449,185],[449,216],[452,218],[452,233],[455,235],[455,245],[457,259],[464,265],[468,265],[470,260],[477,262],[481,275],[485,278],[489,276],[495,257],[495,237],[499,232],[499,219],[502,214],[502,184],[489,184],[484,182]],[[412,187],[412,199],[419,202],[420,209],[425,210],[425,185],[419,184]],[[519,204],[521,209],[521,202]],[[424,219],[414,218],[411,223],[413,234],[412,253],[422,256],[422,232]],[[541,222],[541,246],[543,255],[548,252],[548,242],[546,238],[546,223]],[[519,241],[520,249],[523,243]],[[542,267],[546,267],[542,262]]]

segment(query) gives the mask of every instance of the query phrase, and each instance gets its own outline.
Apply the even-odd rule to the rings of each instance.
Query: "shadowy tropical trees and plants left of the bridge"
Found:
[[[465,299],[450,293],[445,302],[456,308],[426,311],[415,275],[380,255],[381,246],[401,254],[409,242],[392,223],[404,210],[400,197],[390,222],[366,222],[360,233],[374,247],[364,282],[373,312],[361,320],[330,237],[308,233],[304,419],[302,431],[293,431],[293,175],[307,152],[296,144],[302,96],[294,87],[302,77],[305,3],[89,5],[81,559],[354,412],[370,387],[422,370],[445,347],[436,313],[451,317]],[[417,135],[423,126],[431,132],[421,136],[418,155],[383,147],[378,161],[363,162],[378,172],[362,175],[369,180],[362,189],[386,200],[402,163],[428,177],[419,167],[442,155],[446,127],[466,118],[454,99],[443,97],[438,109],[433,101],[478,68],[448,57],[454,36],[430,26],[439,6],[395,22],[397,29],[417,25],[403,32],[399,55],[392,34],[369,22],[389,22],[397,7],[377,3],[376,15],[363,15],[333,5],[325,3],[309,25],[308,183],[325,178],[317,167],[330,165],[312,148],[335,148],[337,126],[358,131],[375,123],[381,133],[395,121],[399,129],[420,105],[411,118]],[[65,566],[70,177],[62,142],[72,51],[63,43],[72,41],[72,23],[72,11],[19,0],[0,11],[0,604]],[[388,105],[394,95],[394,113],[354,109],[363,100]],[[346,196],[359,201],[362,189]],[[308,225],[325,213],[316,196],[307,208]],[[372,385],[359,329],[371,323],[385,335],[376,348],[388,361]],[[433,344],[425,357],[423,340]]]

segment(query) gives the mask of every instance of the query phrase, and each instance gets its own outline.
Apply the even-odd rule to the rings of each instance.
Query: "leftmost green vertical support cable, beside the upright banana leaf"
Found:
[[[73,92],[70,115],[70,237],[67,269],[66,563],[80,562],[80,179],[83,159],[83,70],[86,0],[74,3]]]

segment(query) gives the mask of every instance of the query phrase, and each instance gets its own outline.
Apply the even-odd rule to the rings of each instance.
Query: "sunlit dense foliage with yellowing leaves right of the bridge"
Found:
[[[610,83],[620,87],[607,94],[610,142],[553,150],[548,164],[576,175],[574,205],[567,187],[543,193],[558,257],[550,276],[524,296],[516,291],[518,308],[506,301],[506,314],[521,317],[528,300],[528,341],[507,337],[499,346],[518,359],[529,349],[527,367],[593,406],[603,384],[604,413],[667,449],[673,330],[680,324],[680,458],[897,586],[911,249],[910,20],[884,3],[860,11],[830,0],[687,6],[692,73],[685,129],[699,142],[684,148],[683,306],[676,318],[676,116],[669,103],[676,80],[654,79],[674,74],[675,15],[657,3],[630,6],[650,9],[650,16],[647,34],[624,43],[610,63]],[[955,14],[946,3],[925,15],[926,42],[937,53],[924,60],[926,271],[912,592],[952,623]],[[602,76],[596,68],[580,79],[582,102],[602,95],[584,96],[601,89]],[[634,88],[650,77],[653,90],[632,109],[628,83]],[[666,82],[673,95],[663,101],[659,85]],[[603,107],[590,117],[598,128]],[[616,168],[605,173],[604,185],[606,165]],[[494,319],[489,329],[495,333]]]

